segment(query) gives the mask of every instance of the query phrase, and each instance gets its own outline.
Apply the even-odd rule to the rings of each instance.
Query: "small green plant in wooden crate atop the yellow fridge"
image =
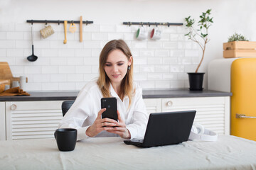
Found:
[[[245,36],[234,33],[223,43],[223,57],[256,57],[256,42],[247,40]]]

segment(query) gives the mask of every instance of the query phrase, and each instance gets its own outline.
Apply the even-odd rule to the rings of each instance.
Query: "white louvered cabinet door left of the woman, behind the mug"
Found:
[[[6,102],[6,140],[53,138],[62,101]]]

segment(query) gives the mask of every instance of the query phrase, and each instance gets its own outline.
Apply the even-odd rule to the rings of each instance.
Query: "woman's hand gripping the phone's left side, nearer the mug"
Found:
[[[112,130],[114,126],[117,126],[117,121],[110,118],[103,118],[102,113],[106,111],[106,108],[102,108],[98,114],[95,122],[86,130],[86,135],[89,137],[95,137],[103,130]]]

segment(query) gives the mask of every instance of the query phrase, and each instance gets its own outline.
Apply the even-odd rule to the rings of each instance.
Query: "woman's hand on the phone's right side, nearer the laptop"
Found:
[[[126,125],[122,120],[119,111],[117,111],[117,118],[119,120],[119,122],[117,123],[117,126],[114,127],[112,130],[107,130],[107,132],[115,133],[124,139],[130,139],[131,134],[129,130],[127,130]]]

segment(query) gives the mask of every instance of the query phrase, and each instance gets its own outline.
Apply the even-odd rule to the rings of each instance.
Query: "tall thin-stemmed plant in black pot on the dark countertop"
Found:
[[[189,40],[193,40],[194,42],[196,42],[203,52],[201,61],[199,62],[198,67],[196,68],[196,72],[188,73],[190,90],[203,90],[203,74],[205,73],[198,72],[198,69],[203,62],[203,57],[206,52],[206,43],[208,43],[210,40],[208,35],[208,28],[211,26],[211,23],[213,23],[213,18],[210,18],[210,11],[211,9],[208,9],[206,12],[203,12],[201,16],[199,16],[199,29],[194,28],[195,20],[192,19],[191,16],[185,18],[186,28],[188,28],[189,30],[189,32],[185,34],[185,36],[188,36]]]

